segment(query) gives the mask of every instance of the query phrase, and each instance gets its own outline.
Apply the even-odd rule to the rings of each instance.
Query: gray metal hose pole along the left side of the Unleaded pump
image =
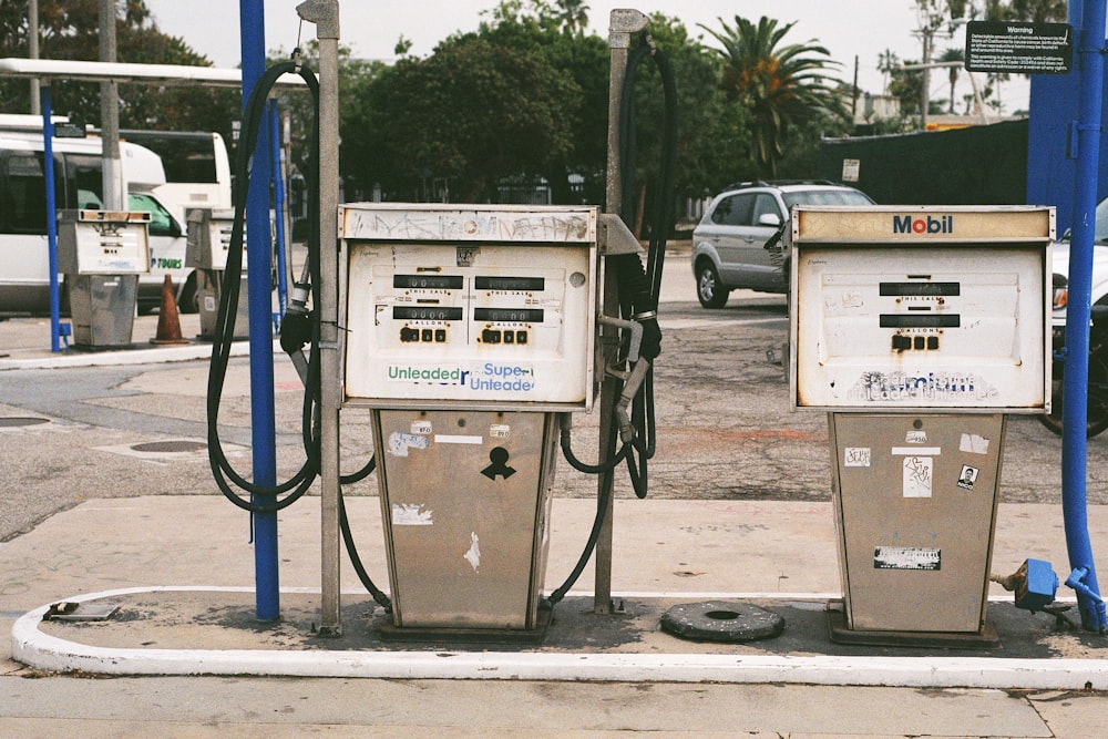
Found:
[[[339,636],[339,3],[308,0],[296,11],[316,23],[319,39],[319,370],[320,393],[320,634]]]

